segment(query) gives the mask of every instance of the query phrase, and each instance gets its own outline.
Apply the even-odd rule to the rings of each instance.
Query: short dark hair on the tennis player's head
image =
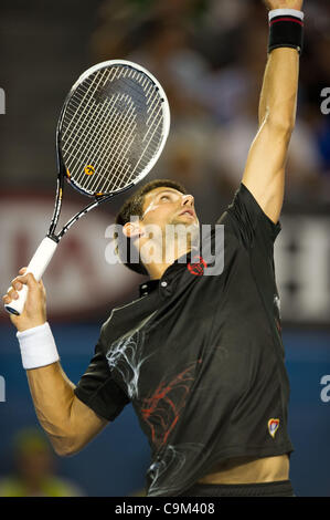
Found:
[[[177,189],[178,191],[181,191],[181,194],[187,195],[187,189],[184,186],[182,186],[180,183],[175,180],[170,180],[170,179],[157,179],[157,180],[151,180],[150,183],[147,183],[143,185],[140,189],[138,189],[135,194],[132,194],[131,197],[129,197],[124,205],[121,206],[121,209],[116,216],[116,225],[118,232],[116,232],[116,253],[118,254],[119,259],[121,262],[128,267],[128,269],[131,269],[135,272],[138,272],[139,274],[148,274],[147,269],[145,268],[140,257],[139,257],[139,263],[137,262],[131,262],[130,261],[130,239],[126,237],[123,232],[123,227],[130,221],[130,218],[132,216],[137,217],[142,217],[143,215],[143,204],[145,204],[145,196],[149,194],[149,191],[152,191],[152,189],[156,188],[173,188]]]

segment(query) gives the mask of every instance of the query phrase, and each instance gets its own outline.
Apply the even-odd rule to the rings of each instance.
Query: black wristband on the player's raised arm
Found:
[[[290,14],[279,14],[269,21],[268,53],[279,46],[297,49],[299,54],[301,54],[304,46],[304,20]]]

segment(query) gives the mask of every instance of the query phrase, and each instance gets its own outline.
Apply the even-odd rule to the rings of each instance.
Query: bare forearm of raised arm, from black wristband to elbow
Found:
[[[297,114],[299,53],[296,49],[274,49],[268,55],[259,102],[259,125],[274,124],[292,131]]]

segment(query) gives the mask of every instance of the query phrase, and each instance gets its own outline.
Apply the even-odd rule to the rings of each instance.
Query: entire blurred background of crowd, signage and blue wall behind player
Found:
[[[296,495],[329,497],[330,6],[305,6],[297,125],[275,254],[291,383],[290,477]],[[0,27],[1,294],[47,230],[57,117],[77,76],[97,62],[126,59],[156,75],[169,97],[171,132],[148,180],[182,181],[202,223],[222,215],[257,132],[268,39],[262,0],[12,0],[1,3]],[[137,298],[143,280],[106,261],[106,229],[124,199],[79,220],[44,275],[49,321],[74,383],[102,323]],[[61,222],[84,202],[68,188]],[[15,331],[1,305],[0,313],[0,496],[140,492],[149,447],[132,408],[81,454],[55,456],[36,422]]]

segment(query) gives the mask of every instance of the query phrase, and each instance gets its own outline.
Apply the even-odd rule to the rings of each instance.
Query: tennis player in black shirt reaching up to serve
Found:
[[[151,447],[150,497],[295,496],[274,242],[296,119],[304,13],[302,0],[265,3],[270,29],[259,128],[233,202],[217,221],[224,227],[221,273],[206,275],[193,239],[177,233],[171,243],[161,240],[167,226],[196,229],[199,220],[193,197],[160,180],[140,188],[117,217],[123,237],[139,251],[140,262],[129,259],[127,267],[150,279],[140,298],[104,323],[77,386],[61,367],[42,282],[21,270],[3,297],[10,303],[29,285],[24,312],[11,320],[39,420],[56,453],[79,451],[131,402]],[[150,225],[159,229],[151,245],[160,257],[147,263]],[[172,257],[166,256],[169,246]]]

